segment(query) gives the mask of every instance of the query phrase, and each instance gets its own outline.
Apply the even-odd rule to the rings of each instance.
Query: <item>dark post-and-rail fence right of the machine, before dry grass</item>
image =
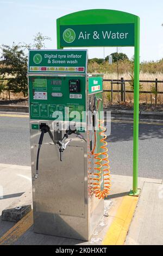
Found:
[[[133,82],[132,80],[124,80],[123,77],[121,77],[121,80],[111,80],[111,79],[104,79],[104,82],[110,82],[111,83],[111,90],[105,90],[104,92],[109,92],[111,93],[111,103],[113,102],[113,94],[114,93],[120,93],[121,95],[121,101],[125,102],[126,101],[126,93],[134,93],[133,90],[126,90],[126,83],[131,83]],[[163,92],[159,92],[158,91],[158,84],[159,83],[163,83],[163,81],[158,80],[158,78],[155,78],[155,80],[140,80],[140,83],[153,83],[155,90],[154,90],[154,94],[155,94],[155,105],[158,103],[158,94],[163,94]],[[115,85],[119,85],[120,84],[120,90],[115,90],[113,87]],[[150,86],[151,84],[149,84]],[[145,94],[153,94],[151,91],[143,91],[140,90],[140,93],[145,93]]]

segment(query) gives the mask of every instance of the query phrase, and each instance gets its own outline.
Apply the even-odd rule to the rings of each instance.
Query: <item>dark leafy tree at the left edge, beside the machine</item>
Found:
[[[24,97],[27,96],[27,56],[23,52],[20,44],[14,42],[12,46],[2,45],[2,56],[0,58],[0,76],[5,80],[5,90],[7,97],[10,92],[22,92]]]

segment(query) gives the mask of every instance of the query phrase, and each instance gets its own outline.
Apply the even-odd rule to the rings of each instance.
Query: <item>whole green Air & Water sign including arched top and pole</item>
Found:
[[[93,9],[78,11],[57,20],[57,47],[134,47],[134,143],[133,191],[137,189],[139,156],[139,54],[140,18],[123,11]],[[39,60],[38,60],[39,61]]]

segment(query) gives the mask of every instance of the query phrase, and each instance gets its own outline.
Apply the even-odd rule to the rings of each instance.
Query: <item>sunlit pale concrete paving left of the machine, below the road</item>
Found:
[[[29,166],[0,164],[0,216],[2,210],[32,204]]]

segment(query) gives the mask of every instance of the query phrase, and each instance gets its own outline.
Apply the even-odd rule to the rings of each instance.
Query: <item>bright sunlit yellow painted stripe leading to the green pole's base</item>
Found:
[[[138,200],[139,197],[126,196],[123,198],[102,245],[124,244]]]

